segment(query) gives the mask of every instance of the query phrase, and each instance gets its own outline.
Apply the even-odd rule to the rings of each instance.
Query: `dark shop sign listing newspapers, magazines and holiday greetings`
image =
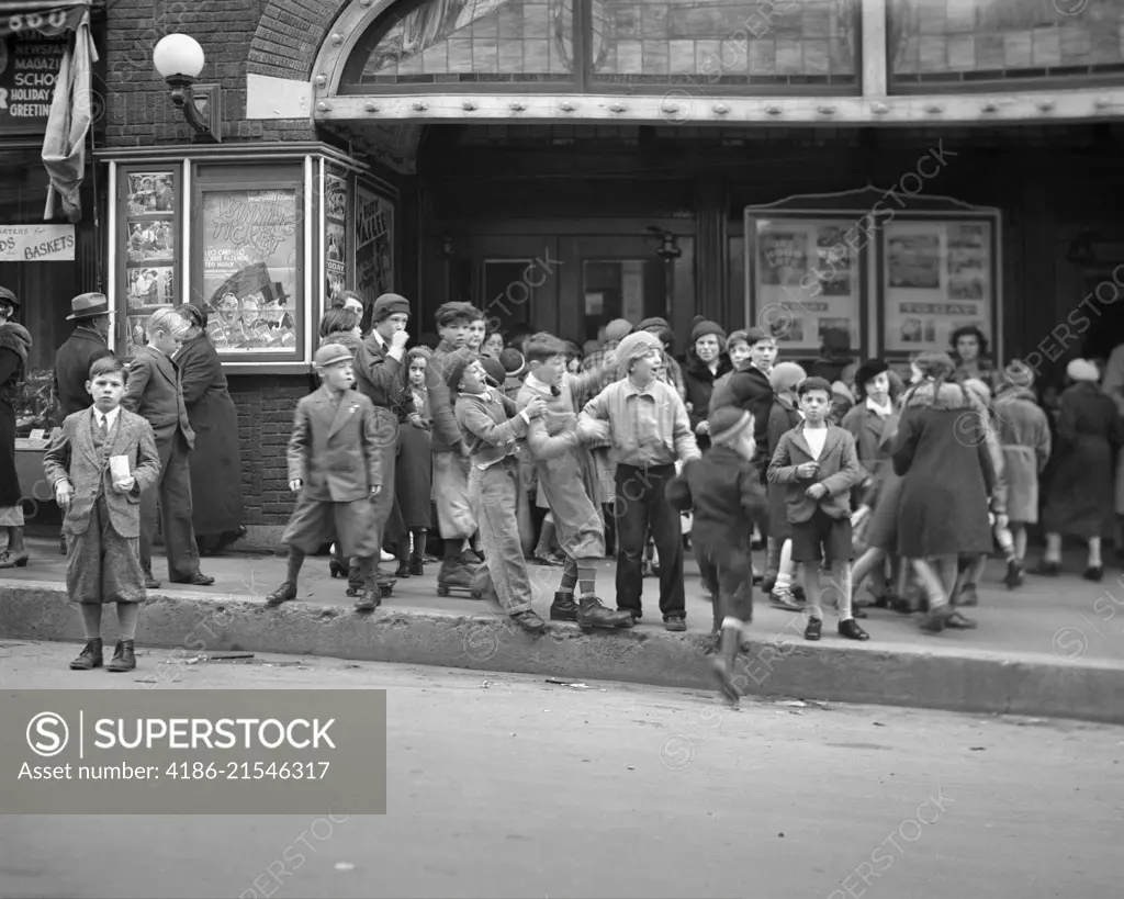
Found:
[[[85,3],[42,7],[0,3],[0,133],[45,129],[66,31],[89,9]]]

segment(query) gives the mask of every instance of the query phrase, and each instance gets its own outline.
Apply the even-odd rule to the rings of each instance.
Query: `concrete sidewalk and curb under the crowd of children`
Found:
[[[81,639],[66,605],[65,560],[57,542],[29,541],[26,569],[0,571],[0,636]],[[1069,571],[1081,562],[1067,559]],[[154,565],[165,580],[162,560]],[[644,619],[631,632],[584,635],[551,624],[534,639],[498,608],[459,596],[436,596],[436,566],[398,581],[371,616],[355,614],[343,580],[328,576],[326,557],[309,559],[300,599],[268,609],[263,597],[284,576],[278,556],[233,554],[202,560],[216,583],[165,583],[151,591],[137,642],[206,650],[314,654],[369,661],[520,671],[570,680],[602,679],[709,689],[710,602],[688,563],[687,634],[669,634],[656,602],[658,582],[644,584]],[[533,603],[543,618],[560,569],[531,569]],[[759,601],[753,647],[743,674],[747,692],[835,701],[877,702],[959,711],[991,711],[1124,723],[1124,576],[1116,567],[1094,584],[1077,574],[1027,575],[1008,591],[989,566],[980,606],[969,610],[973,632],[924,635],[915,617],[871,609],[862,621],[868,643],[835,633],[828,610],[824,639],[803,639],[798,614]],[[611,606],[613,563],[598,587]],[[174,589],[173,589],[174,588]],[[112,618],[107,618],[112,621]],[[109,627],[111,628],[111,624]],[[111,633],[111,632],[107,632]],[[143,663],[142,663],[143,664]]]

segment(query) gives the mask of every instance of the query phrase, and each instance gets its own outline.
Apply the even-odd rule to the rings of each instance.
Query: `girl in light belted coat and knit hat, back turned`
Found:
[[[1034,396],[1034,371],[1013,362],[1003,372],[995,398],[999,443],[1007,478],[1007,518],[1014,539],[1014,560],[1006,583],[1023,582],[1026,528],[1039,521],[1039,478],[1050,461],[1050,421]]]

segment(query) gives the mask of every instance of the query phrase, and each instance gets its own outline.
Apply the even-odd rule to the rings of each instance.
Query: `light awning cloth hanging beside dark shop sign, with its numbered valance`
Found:
[[[55,201],[67,220],[82,218],[79,189],[85,167],[85,136],[92,122],[91,80],[98,51],[90,34],[90,0],[0,0],[0,38],[73,31],[55,80],[43,139],[43,164],[51,179],[43,217],[54,218]]]

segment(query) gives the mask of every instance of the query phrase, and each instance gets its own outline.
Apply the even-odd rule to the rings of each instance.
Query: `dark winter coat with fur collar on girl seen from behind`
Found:
[[[987,409],[960,384],[906,394],[891,456],[901,478],[898,555],[932,559],[991,551],[988,501],[996,484]]]

